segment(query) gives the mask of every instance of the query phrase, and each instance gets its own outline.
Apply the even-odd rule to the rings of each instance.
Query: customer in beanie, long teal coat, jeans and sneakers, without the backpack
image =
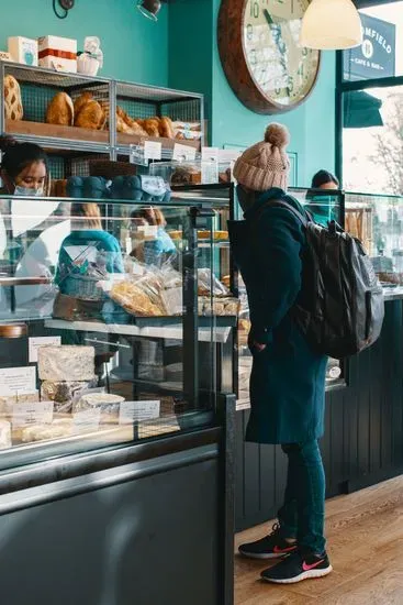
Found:
[[[288,187],[289,132],[270,124],[265,141],[244,152],[234,167],[245,219],[254,229],[238,262],[246,284],[251,330],[250,418],[246,440],[281,444],[288,479],[279,522],[269,536],[242,544],[253,559],[283,558],[264,571],[273,583],[294,583],[332,571],[324,538],[325,474],[317,440],[324,432],[327,358],[315,353],[292,319],[301,293],[306,245],[291,210],[270,206]],[[287,201],[304,213],[293,198]]]

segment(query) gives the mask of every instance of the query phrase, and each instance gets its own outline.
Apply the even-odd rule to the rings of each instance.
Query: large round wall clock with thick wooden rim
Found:
[[[219,48],[238,99],[257,113],[281,113],[312,91],[321,53],[299,46],[310,0],[222,0]]]

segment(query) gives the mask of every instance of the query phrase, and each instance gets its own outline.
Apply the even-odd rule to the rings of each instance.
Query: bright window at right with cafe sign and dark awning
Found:
[[[403,1],[359,12],[362,46],[338,56],[338,173],[346,190],[402,195]]]

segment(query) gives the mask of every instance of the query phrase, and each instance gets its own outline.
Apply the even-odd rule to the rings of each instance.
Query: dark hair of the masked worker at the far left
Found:
[[[15,178],[26,166],[36,162],[43,162],[48,172],[47,155],[40,145],[34,143],[18,143],[11,136],[0,136],[0,151],[2,152],[1,169]]]

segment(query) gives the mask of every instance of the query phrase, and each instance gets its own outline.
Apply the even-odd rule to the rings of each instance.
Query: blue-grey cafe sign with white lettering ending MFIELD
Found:
[[[360,13],[362,44],[344,51],[344,79],[368,80],[395,75],[396,26]]]

